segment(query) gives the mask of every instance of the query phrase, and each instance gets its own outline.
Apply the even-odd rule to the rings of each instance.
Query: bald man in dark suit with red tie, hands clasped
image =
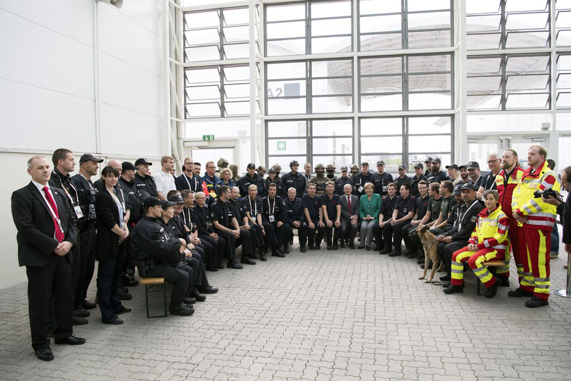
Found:
[[[26,266],[28,304],[32,347],[40,360],[53,360],[47,338],[47,311],[53,292],[54,342],[83,344],[85,339],[73,336],[71,315],[70,249],[77,242],[75,212],[71,210],[63,190],[50,188],[51,166],[46,158],[35,156],[28,161],[29,185],[12,194],[12,217],[18,230],[18,261]],[[49,286],[50,285],[50,286]]]

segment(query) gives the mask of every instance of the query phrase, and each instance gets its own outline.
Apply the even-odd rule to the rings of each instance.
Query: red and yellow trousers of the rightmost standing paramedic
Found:
[[[549,298],[549,254],[551,231],[522,227],[521,244],[526,257],[520,287],[542,300]]]

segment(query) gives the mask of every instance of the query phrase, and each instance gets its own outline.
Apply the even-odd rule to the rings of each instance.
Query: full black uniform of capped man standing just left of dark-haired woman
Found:
[[[95,196],[97,190],[91,180],[77,174],[71,177],[77,190],[79,206],[83,219],[78,223],[79,230],[79,277],[74,293],[74,310],[82,308],[87,302],[87,289],[95,270]]]

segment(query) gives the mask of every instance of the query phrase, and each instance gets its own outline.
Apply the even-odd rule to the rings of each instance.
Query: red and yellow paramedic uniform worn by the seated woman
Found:
[[[489,260],[504,260],[506,251],[509,252],[508,216],[497,206],[491,213],[485,208],[478,214],[476,228],[468,243],[477,244],[478,251],[469,251],[468,247],[461,248],[452,254],[452,286],[462,286],[464,283],[464,264],[472,268],[474,274],[484,286],[492,287],[496,278],[482,266]]]

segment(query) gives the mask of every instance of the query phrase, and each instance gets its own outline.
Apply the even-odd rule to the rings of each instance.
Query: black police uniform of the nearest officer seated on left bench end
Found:
[[[143,216],[131,233],[131,247],[132,260],[139,263],[139,274],[148,278],[164,278],[171,283],[171,307],[179,307],[192,290],[192,269],[180,263],[179,240],[172,238],[158,220]]]

